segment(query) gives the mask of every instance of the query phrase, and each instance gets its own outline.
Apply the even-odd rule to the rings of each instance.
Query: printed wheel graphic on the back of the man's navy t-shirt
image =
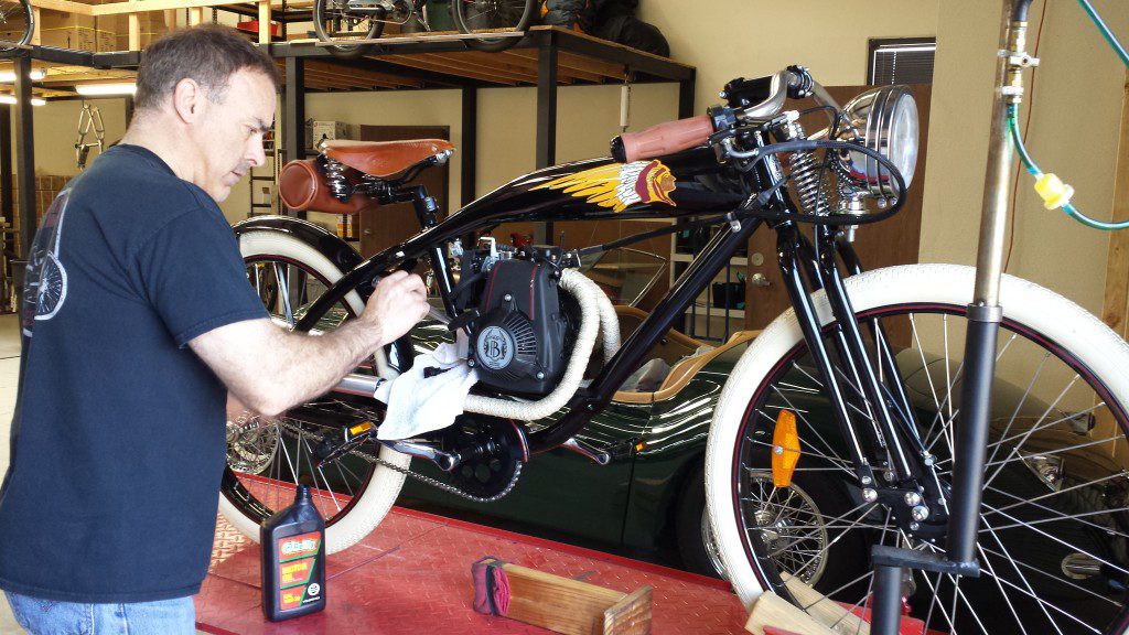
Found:
[[[32,337],[35,320],[50,320],[67,299],[67,269],[59,254],[62,240],[63,215],[70,190],[59,192],[43,215],[43,223],[32,243],[32,258],[27,260],[24,277],[24,334]]]

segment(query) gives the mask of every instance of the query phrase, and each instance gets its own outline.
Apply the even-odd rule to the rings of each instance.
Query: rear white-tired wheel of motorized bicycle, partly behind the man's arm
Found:
[[[251,230],[239,237],[247,278],[272,319],[292,328],[305,311],[341,277],[329,259],[308,244],[279,232]],[[364,308],[350,293],[317,324],[330,331]],[[395,368],[378,351],[373,367],[382,376]],[[242,418],[228,423],[228,464],[220,511],[240,532],[259,539],[259,523],[294,501],[295,485],[312,487],[325,519],[326,551],[344,549],[384,519],[403,486],[404,475],[377,464],[379,458],[406,469],[411,459],[368,441],[318,467],[318,445],[344,427],[369,419],[364,400],[333,393],[294,408],[271,421]]]

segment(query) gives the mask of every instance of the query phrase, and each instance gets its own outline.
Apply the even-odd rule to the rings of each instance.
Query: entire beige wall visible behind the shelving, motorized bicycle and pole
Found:
[[[1096,5],[1117,33],[1129,34],[1129,8],[1114,0]],[[698,68],[699,112],[717,101],[717,90],[728,79],[770,73],[789,63],[809,67],[828,85],[863,84],[868,38],[936,35],[930,169],[920,183],[926,188],[920,255],[922,261],[974,260],[999,2],[809,0],[785,9],[779,2],[718,0],[709,11],[686,10],[688,6],[682,0],[646,0],[641,17],[663,29],[674,59]],[[796,25],[794,34],[773,35],[771,28],[758,26],[768,24],[764,15],[779,21],[785,10]],[[1040,0],[1033,7],[1033,20],[1038,21],[1041,10]],[[1045,169],[1078,189],[1082,209],[1109,217],[1124,72],[1074,2],[1053,2],[1047,16],[1029,143]],[[675,116],[675,102],[676,89],[671,85],[636,87],[632,129]],[[124,127],[121,101],[100,103],[107,139],[116,139]],[[35,110],[41,172],[75,172],[72,143],[79,107],[78,102],[64,102]],[[480,92],[479,194],[533,169],[535,110],[535,92],[530,88]],[[558,160],[605,154],[607,140],[619,131],[618,112],[618,87],[562,88]],[[462,140],[455,90],[310,94],[307,116],[366,124],[449,125],[456,146]],[[452,169],[455,201],[460,199],[461,160],[456,154]],[[1029,194],[1025,175],[1021,185],[1012,271],[1099,311],[1108,236],[1043,211]],[[222,207],[234,221],[246,216],[248,202],[248,188],[243,183]]]

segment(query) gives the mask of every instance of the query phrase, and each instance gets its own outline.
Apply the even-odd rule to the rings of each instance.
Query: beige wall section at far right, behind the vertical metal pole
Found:
[[[1129,7],[1113,0],[1095,6],[1115,33],[1129,35]],[[1042,8],[1041,0],[1032,7],[1030,47]],[[999,2],[944,0],[922,261],[975,261],[999,17]],[[1033,110],[1024,104],[1024,116],[1033,113],[1027,146],[1040,167],[1077,189],[1079,209],[1109,219],[1124,69],[1075,2],[1051,2],[1045,19]],[[1044,210],[1031,183],[1023,172],[1009,271],[1100,312],[1109,234]]]

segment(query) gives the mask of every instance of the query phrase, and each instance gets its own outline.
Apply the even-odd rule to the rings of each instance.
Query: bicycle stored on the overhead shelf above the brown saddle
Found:
[[[405,25],[417,20],[431,31],[428,0],[315,0],[314,31],[323,42],[332,42],[334,55],[355,59],[365,55],[388,24]],[[491,35],[498,32],[525,31],[533,21],[537,0],[450,0],[450,17],[455,28],[466,38],[466,45],[479,51],[498,52],[517,43],[514,36]],[[357,41],[350,44],[350,41]]]

